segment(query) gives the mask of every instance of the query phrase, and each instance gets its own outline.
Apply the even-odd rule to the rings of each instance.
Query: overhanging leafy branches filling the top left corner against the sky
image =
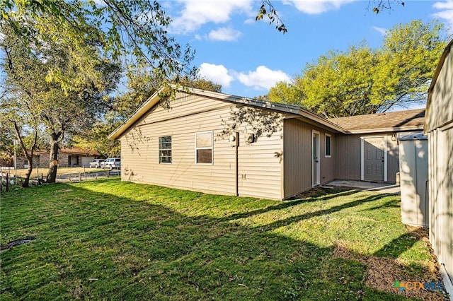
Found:
[[[99,42],[105,58],[121,59],[127,70],[147,68],[162,83],[196,71],[190,67],[190,47],[168,37],[171,19],[157,1],[4,0],[0,7],[0,22],[10,25],[25,47],[46,47],[49,35],[57,33],[59,43],[79,59],[79,67],[87,67],[80,41],[91,40]],[[33,25],[24,26],[24,19]],[[58,69],[53,72],[54,81],[65,90],[71,88],[69,76]]]

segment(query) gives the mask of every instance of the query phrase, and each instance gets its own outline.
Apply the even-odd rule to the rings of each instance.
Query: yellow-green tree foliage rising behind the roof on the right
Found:
[[[347,52],[328,52],[306,64],[292,83],[277,83],[269,98],[324,117],[372,114],[423,102],[445,47],[442,28],[437,22],[415,20],[389,30],[380,49],[364,42]]]

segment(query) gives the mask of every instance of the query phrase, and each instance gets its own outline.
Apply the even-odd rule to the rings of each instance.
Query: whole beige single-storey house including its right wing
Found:
[[[268,199],[333,179],[394,182],[392,136],[423,128],[421,110],[378,114],[366,129],[356,126],[369,117],[327,120],[301,107],[195,88],[178,90],[171,110],[160,102],[158,91],[109,136],[121,142],[123,180]]]

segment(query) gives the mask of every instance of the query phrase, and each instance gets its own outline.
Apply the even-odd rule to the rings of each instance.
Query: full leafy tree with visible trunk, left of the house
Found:
[[[71,48],[60,43],[62,39],[57,33],[52,39],[42,35],[47,37],[40,41],[46,47],[25,47],[11,34],[13,29],[7,24],[1,29],[4,33],[1,45],[6,54],[3,70],[13,90],[19,91],[16,94],[25,95],[21,102],[15,102],[15,109],[33,116],[35,126],[45,126],[50,137],[51,163],[47,182],[55,182],[57,165],[54,163],[65,135],[78,133],[93,124],[106,107],[104,96],[115,87],[120,69],[100,57],[97,41],[81,40],[73,45],[84,49],[84,60],[80,61]],[[59,76],[59,72],[64,72],[64,76]],[[59,80],[54,81],[54,77]],[[65,78],[71,78],[70,82]]]

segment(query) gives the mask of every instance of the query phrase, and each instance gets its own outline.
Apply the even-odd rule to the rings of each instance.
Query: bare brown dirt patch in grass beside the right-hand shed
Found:
[[[407,226],[408,231],[411,232],[415,237],[414,239],[423,240],[428,242],[428,230],[424,228],[415,228]],[[431,254],[432,249],[430,250]],[[442,281],[442,276],[439,273],[439,265],[435,259],[435,256],[432,255],[432,260],[428,265],[423,266],[423,274],[425,275],[424,279],[414,279],[413,276],[408,274],[407,266],[401,264],[398,259],[391,259],[389,257],[380,257],[380,256],[363,256],[350,250],[345,247],[343,244],[339,243],[336,245],[336,248],[333,250],[333,256],[351,259],[355,261],[360,261],[362,264],[367,266],[367,274],[365,276],[365,285],[369,288],[375,288],[377,290],[384,290],[388,293],[394,293],[398,295],[403,295],[405,297],[415,297],[421,300],[448,300],[445,291],[432,291],[432,290],[403,290],[401,293],[398,293],[398,288],[392,288],[391,284],[395,281],[402,282],[431,282],[431,281]]]

